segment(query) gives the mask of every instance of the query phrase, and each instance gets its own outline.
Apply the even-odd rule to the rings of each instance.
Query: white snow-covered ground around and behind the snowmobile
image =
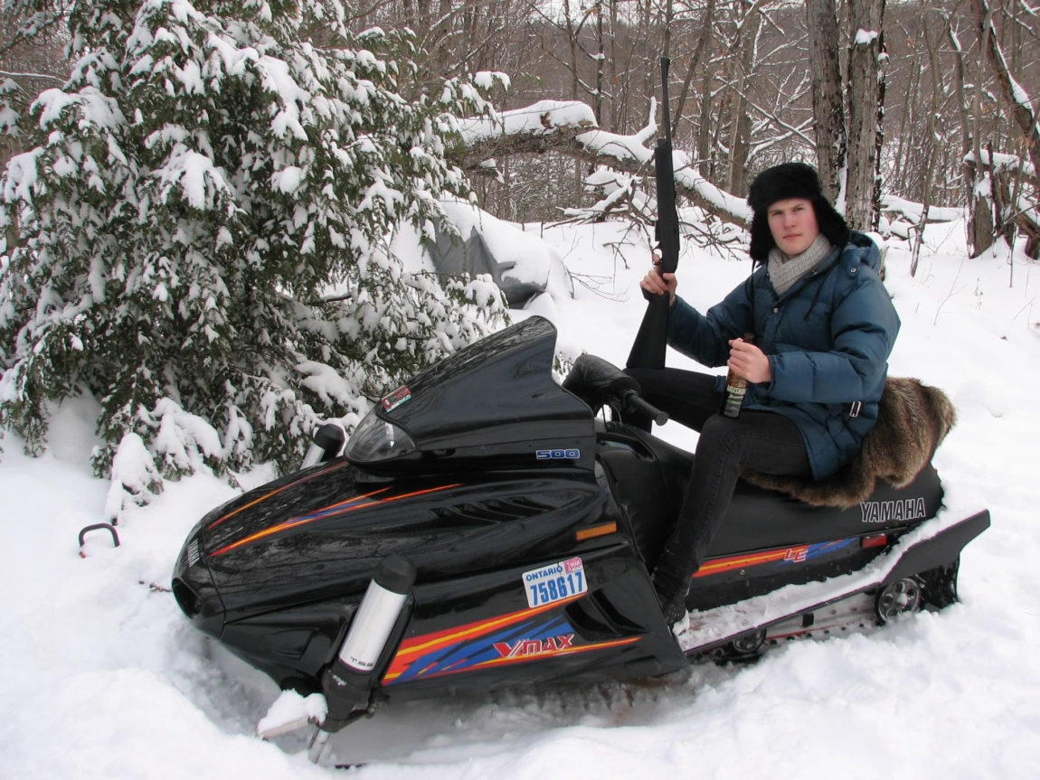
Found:
[[[548,316],[562,349],[623,364],[644,308],[645,239],[628,243],[616,225],[544,236],[576,275],[575,297],[557,275],[557,294],[517,316]],[[962,236],[930,228],[916,279],[906,244],[887,257],[903,320],[890,373],[953,397],[959,421],[936,465],[952,505],[992,513],[962,556],[960,603],[667,684],[391,704],[333,737],[330,757],[366,761],[352,771],[366,779],[1040,776],[1040,266],[1006,252],[969,260]],[[706,307],[749,270],[687,242],[679,291]],[[4,443],[0,777],[336,776],[308,762],[303,737],[254,736],[278,691],[163,590],[187,531],[232,488],[172,484],[122,519],[122,546],[92,534],[80,557],[77,535],[103,519],[107,490],[87,466],[94,416],[85,399],[62,408],[40,459]],[[662,435],[693,445],[674,423]]]

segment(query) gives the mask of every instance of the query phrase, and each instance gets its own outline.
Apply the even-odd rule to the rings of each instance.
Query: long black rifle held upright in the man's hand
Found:
[[[668,106],[668,67],[671,60],[660,58],[661,97],[665,135],[657,138],[654,150],[654,178],[657,182],[657,224],[654,238],[660,252],[658,274],[674,274],[679,264],[679,214],[675,210],[675,171],[672,163],[672,118]],[[664,368],[668,342],[667,294],[652,295],[645,290],[647,310],[639,333],[628,354],[627,368]]]

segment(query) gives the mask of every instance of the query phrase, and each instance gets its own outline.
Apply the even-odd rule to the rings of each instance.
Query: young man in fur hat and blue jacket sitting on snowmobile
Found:
[[[759,174],[748,204],[758,266],[701,313],[676,295],[674,274],[640,283],[671,303],[668,343],[706,366],[745,376],[740,415],[719,414],[724,376],[629,369],[643,395],[700,432],[676,527],[653,572],[669,622],[729,508],[739,469],[823,478],[848,463],[878,417],[900,321],[878,277],[881,255],[824,198],[814,168],[788,162]],[[749,343],[742,334],[753,334]]]

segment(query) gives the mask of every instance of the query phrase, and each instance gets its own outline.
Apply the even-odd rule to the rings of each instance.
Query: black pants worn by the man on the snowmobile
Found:
[[[694,471],[675,529],[666,542],[653,581],[662,603],[685,594],[711,538],[729,509],[738,468],[765,474],[812,473],[798,426],[783,415],[743,411],[719,414],[716,378],[676,368],[628,369],[642,395],[671,419],[699,431]]]

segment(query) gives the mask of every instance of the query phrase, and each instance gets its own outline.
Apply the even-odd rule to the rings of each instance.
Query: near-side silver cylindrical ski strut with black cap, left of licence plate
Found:
[[[329,714],[323,731],[339,731],[355,710],[365,709],[387,640],[397,624],[415,583],[415,567],[399,555],[380,564],[355,613],[336,660],[321,676]]]

